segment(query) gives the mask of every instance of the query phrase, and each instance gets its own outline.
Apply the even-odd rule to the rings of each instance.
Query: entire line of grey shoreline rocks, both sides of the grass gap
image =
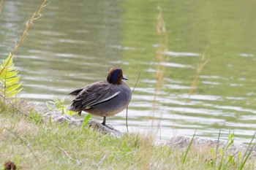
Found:
[[[48,108],[42,107],[40,104],[31,101],[21,101],[20,104],[25,106],[25,108],[23,109],[34,109],[35,112],[37,112],[39,115],[42,115],[45,121],[49,120],[49,118],[51,117],[52,123],[65,123],[66,121],[68,121],[68,125],[80,126],[83,124],[83,119],[78,120],[71,115],[62,115],[60,112],[49,111]],[[113,137],[121,138],[121,136],[126,134],[118,131],[116,128],[113,128],[111,126],[102,125],[94,119],[90,119],[88,124],[89,126],[98,129],[99,132],[102,132],[103,134],[108,134]],[[167,140],[167,142],[159,142],[156,145],[165,145],[167,147],[172,147],[178,150],[186,150],[187,147],[189,147],[191,139],[192,138],[187,136],[172,136],[170,137],[170,139]],[[225,147],[227,147],[227,142],[225,141],[219,140],[218,142],[218,140],[216,139],[200,138],[195,136],[192,142],[192,148],[197,152],[202,152],[203,150],[211,150],[212,148],[217,148],[217,144],[219,148],[222,148],[222,150],[225,150]],[[234,142],[230,145],[230,147],[227,148],[226,152],[231,155],[238,155],[241,151],[244,154],[247,147],[248,145],[241,142]],[[252,150],[250,157],[256,157],[256,147],[254,147],[254,149]]]

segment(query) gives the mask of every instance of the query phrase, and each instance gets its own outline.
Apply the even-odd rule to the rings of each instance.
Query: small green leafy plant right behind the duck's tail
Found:
[[[77,112],[73,112],[70,110],[67,110],[67,106],[64,104],[65,98],[61,98],[61,100],[59,100],[58,98],[56,98],[55,96],[53,96],[53,101],[47,101],[46,102],[46,106],[51,109],[51,110],[56,110],[56,111],[61,111],[61,114],[67,114],[67,115],[74,115]]]

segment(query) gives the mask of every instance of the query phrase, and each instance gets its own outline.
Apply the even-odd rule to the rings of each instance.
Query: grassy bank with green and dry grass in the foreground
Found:
[[[7,161],[18,169],[238,169],[242,163],[229,163],[229,155],[215,160],[211,148],[176,150],[154,145],[151,135],[115,138],[87,125],[38,123],[1,102],[0,108],[0,169]],[[249,159],[243,166],[254,169],[255,163]]]

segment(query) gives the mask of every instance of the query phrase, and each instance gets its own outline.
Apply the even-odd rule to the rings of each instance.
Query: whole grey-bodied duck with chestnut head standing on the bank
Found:
[[[111,68],[107,80],[94,82],[69,93],[76,97],[68,109],[78,112],[78,115],[84,111],[102,116],[102,125],[105,125],[106,117],[121,112],[132,98],[131,89],[122,80],[128,80],[123,76],[122,70]]]

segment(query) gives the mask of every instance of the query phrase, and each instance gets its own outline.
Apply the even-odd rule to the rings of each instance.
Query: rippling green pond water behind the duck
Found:
[[[42,1],[3,1],[0,59]],[[256,1],[53,0],[15,55],[20,98],[53,96],[105,80],[123,69],[131,88],[129,131],[249,142],[256,128]],[[198,74],[202,57],[206,66]],[[67,97],[69,104],[72,97]],[[126,131],[126,112],[107,123]],[[94,117],[102,121],[102,117]]]

